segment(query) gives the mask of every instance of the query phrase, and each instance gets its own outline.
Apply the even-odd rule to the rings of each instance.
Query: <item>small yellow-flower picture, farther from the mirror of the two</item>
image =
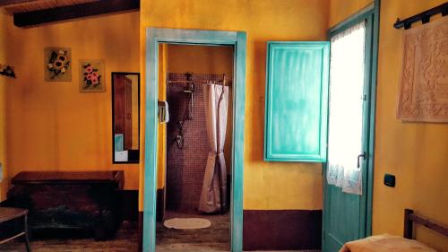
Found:
[[[72,82],[72,49],[45,48],[44,76],[46,82]]]

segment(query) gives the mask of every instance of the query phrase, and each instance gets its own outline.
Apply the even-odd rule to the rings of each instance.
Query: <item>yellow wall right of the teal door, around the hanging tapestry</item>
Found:
[[[348,13],[362,9],[364,4],[360,2],[363,1],[332,0],[329,27],[347,18]],[[402,123],[396,119],[402,30],[392,28],[392,24],[398,17],[420,13],[444,0],[381,2],[373,232],[402,235],[404,208],[448,223],[448,127],[446,124]],[[384,173],[396,176],[396,187],[383,186]],[[418,227],[417,239],[437,251],[448,251],[448,240],[425,228]]]

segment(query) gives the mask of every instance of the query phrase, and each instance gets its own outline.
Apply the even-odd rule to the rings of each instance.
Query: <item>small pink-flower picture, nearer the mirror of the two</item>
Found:
[[[80,60],[80,91],[106,91],[104,60]]]

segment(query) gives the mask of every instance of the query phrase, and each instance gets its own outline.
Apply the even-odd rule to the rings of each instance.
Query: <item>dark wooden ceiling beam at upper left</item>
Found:
[[[138,11],[139,9],[140,0],[101,0],[99,2],[61,6],[29,13],[15,13],[14,25],[30,27],[48,22],[61,22],[100,14]]]

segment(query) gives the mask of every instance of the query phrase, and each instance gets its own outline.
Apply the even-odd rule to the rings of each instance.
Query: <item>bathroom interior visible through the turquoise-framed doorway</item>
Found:
[[[159,250],[229,249],[233,69],[230,46],[159,45]]]

